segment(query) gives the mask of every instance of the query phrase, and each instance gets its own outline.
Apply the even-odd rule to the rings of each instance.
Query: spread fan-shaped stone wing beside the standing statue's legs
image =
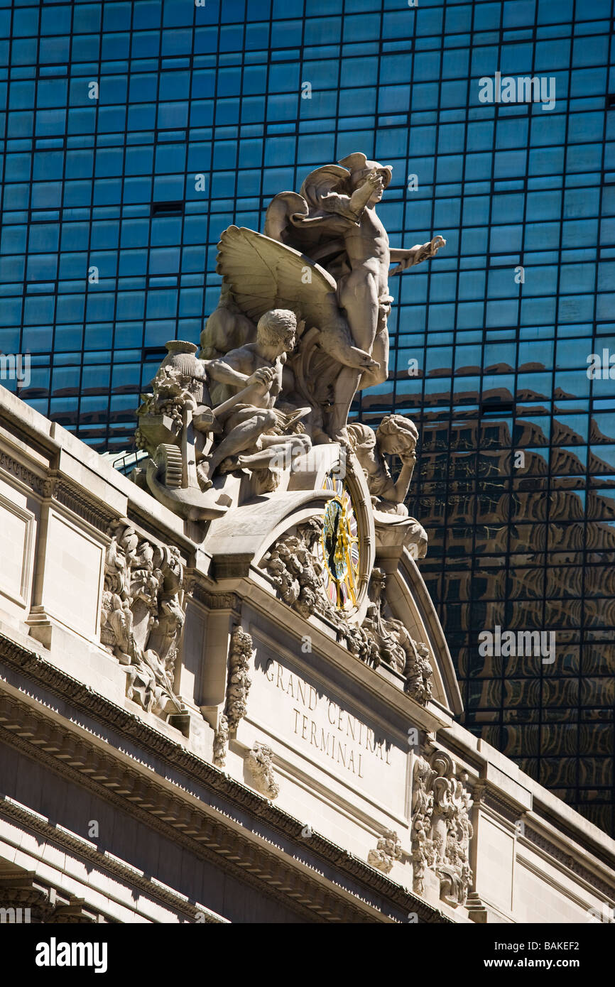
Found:
[[[216,270],[242,312],[258,322],[272,308],[299,310],[308,327],[338,312],[337,283],[304,254],[242,226],[220,237]]]

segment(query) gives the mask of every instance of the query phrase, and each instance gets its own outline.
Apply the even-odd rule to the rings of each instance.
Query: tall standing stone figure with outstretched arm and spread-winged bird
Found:
[[[220,238],[216,270],[245,316],[258,321],[285,308],[305,320],[289,362],[298,393],[314,405],[311,426],[331,441],[347,441],[356,392],[387,379],[391,264],[400,273],[445,243],[436,236],[408,249],[389,246],[376,205],[391,175],[391,166],[355,152],[311,172],[298,194],[275,195],[265,234],[230,226]]]

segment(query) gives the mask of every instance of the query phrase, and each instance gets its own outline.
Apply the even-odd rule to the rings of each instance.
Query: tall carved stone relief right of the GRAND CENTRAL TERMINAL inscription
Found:
[[[415,762],[412,804],[414,890],[423,894],[427,869],[439,879],[440,898],[456,908],[466,902],[472,881],[472,798],[465,772],[443,751]]]

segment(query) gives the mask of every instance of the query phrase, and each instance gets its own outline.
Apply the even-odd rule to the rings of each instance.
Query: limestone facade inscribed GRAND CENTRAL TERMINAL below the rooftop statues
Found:
[[[1,907],[612,920],[615,843],[455,721],[416,555],[366,520],[358,630],[327,606],[321,466],[203,528],[0,389]]]

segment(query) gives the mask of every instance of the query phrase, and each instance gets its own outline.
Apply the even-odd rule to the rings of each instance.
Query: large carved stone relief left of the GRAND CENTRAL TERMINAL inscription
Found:
[[[141,538],[115,521],[105,559],[101,643],[126,672],[126,696],[148,713],[182,713],[175,662],[186,617],[179,551]]]

